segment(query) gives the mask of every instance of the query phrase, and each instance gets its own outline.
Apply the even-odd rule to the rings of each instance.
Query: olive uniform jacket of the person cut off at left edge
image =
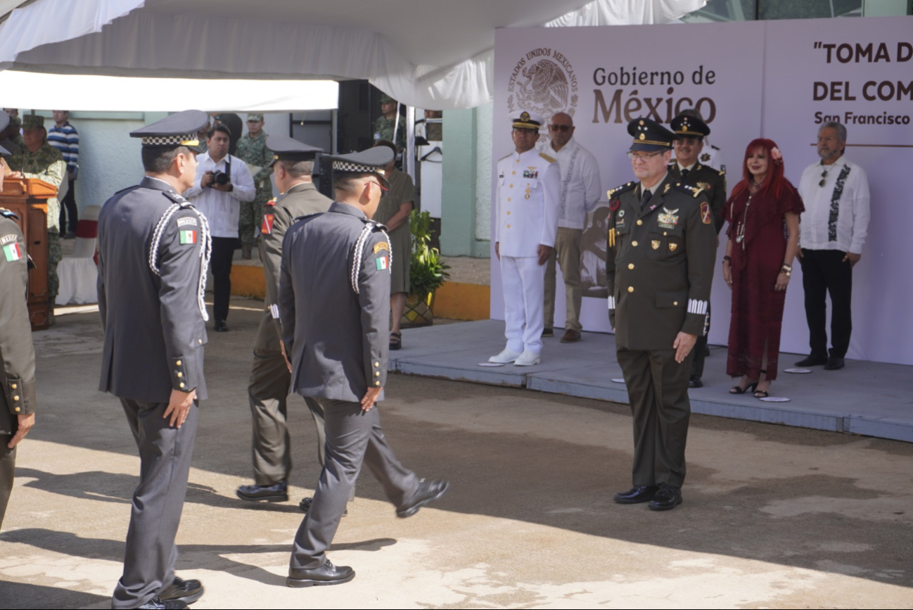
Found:
[[[35,347],[28,320],[26,240],[14,220],[0,208],[0,385],[9,415],[35,412]],[[4,418],[0,418],[4,421]],[[12,430],[0,433],[12,434]]]

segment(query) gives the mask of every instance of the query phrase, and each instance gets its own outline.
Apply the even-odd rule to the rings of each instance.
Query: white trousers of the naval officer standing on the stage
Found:
[[[545,265],[537,257],[501,256],[504,336],[514,352],[542,351]]]

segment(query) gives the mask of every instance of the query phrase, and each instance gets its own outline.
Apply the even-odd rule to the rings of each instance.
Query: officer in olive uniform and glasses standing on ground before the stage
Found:
[[[707,197],[667,171],[673,134],[647,119],[628,125],[639,182],[609,191],[609,321],[634,415],[634,488],[622,504],[681,503],[691,406],[690,354],[707,327],[716,242]]]

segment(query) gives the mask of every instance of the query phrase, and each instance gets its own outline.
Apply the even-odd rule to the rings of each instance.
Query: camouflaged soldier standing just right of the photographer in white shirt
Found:
[[[267,148],[267,133],[263,131],[262,114],[247,114],[247,135],[237,142],[237,157],[248,165],[260,168],[257,174],[254,174],[257,196],[250,203],[241,202],[241,216],[238,218],[241,257],[250,258],[251,248],[257,243],[254,229],[260,226],[263,206],[273,196],[273,184],[269,180],[273,174],[270,166],[270,163],[273,163],[273,153]]]

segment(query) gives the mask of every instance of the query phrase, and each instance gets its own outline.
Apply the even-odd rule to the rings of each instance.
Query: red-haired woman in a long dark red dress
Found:
[[[730,394],[769,395],[777,378],[780,329],[792,259],[799,249],[802,198],[783,177],[776,142],[759,138],[745,149],[742,180],[732,189],[723,279],[732,290],[726,373],[741,377]]]

